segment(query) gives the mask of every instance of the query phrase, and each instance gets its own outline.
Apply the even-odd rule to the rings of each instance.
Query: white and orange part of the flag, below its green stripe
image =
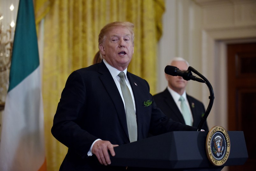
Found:
[[[45,161],[40,67],[8,92],[0,142],[1,171],[37,171]]]

